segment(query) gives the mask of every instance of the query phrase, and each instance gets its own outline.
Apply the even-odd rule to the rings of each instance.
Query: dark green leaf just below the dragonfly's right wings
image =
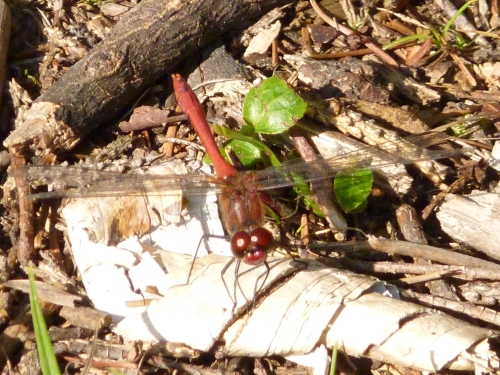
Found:
[[[366,204],[373,185],[373,173],[366,168],[341,171],[335,177],[335,196],[345,212]]]

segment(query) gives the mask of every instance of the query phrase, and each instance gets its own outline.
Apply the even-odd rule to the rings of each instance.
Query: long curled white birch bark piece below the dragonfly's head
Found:
[[[425,307],[382,296],[378,292],[386,289],[380,281],[315,261],[270,261],[266,290],[259,292],[257,302],[245,301],[238,292],[238,306],[232,309],[221,278],[227,258],[208,258],[208,266],[192,282],[170,288],[145,312],[126,317],[115,326],[115,333],[126,339],[183,343],[202,351],[212,350],[222,338],[226,355],[237,357],[299,355],[338,343],[351,355],[389,359],[423,371],[460,362],[457,356],[467,355],[465,351],[473,350],[474,343],[494,335]],[[305,263],[307,270],[293,271]],[[247,296],[253,293],[262,268],[240,274]],[[230,286],[232,271],[224,275]],[[268,290],[268,283],[275,288]],[[255,307],[247,312],[249,305]]]

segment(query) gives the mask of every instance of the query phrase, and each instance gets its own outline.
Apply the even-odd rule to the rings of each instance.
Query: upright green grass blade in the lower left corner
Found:
[[[28,270],[29,287],[30,287],[30,305],[31,316],[33,319],[33,328],[35,330],[36,346],[38,348],[38,355],[40,357],[40,366],[44,375],[59,375],[59,364],[54,354],[54,349],[50,341],[47,325],[43,318],[42,308],[38,301],[38,294],[35,286],[35,277],[33,276],[33,269],[30,267]]]

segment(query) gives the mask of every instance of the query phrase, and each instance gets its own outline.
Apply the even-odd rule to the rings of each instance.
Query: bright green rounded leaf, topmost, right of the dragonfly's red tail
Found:
[[[250,90],[243,103],[243,117],[256,133],[279,134],[304,116],[307,104],[285,81],[268,78]]]

